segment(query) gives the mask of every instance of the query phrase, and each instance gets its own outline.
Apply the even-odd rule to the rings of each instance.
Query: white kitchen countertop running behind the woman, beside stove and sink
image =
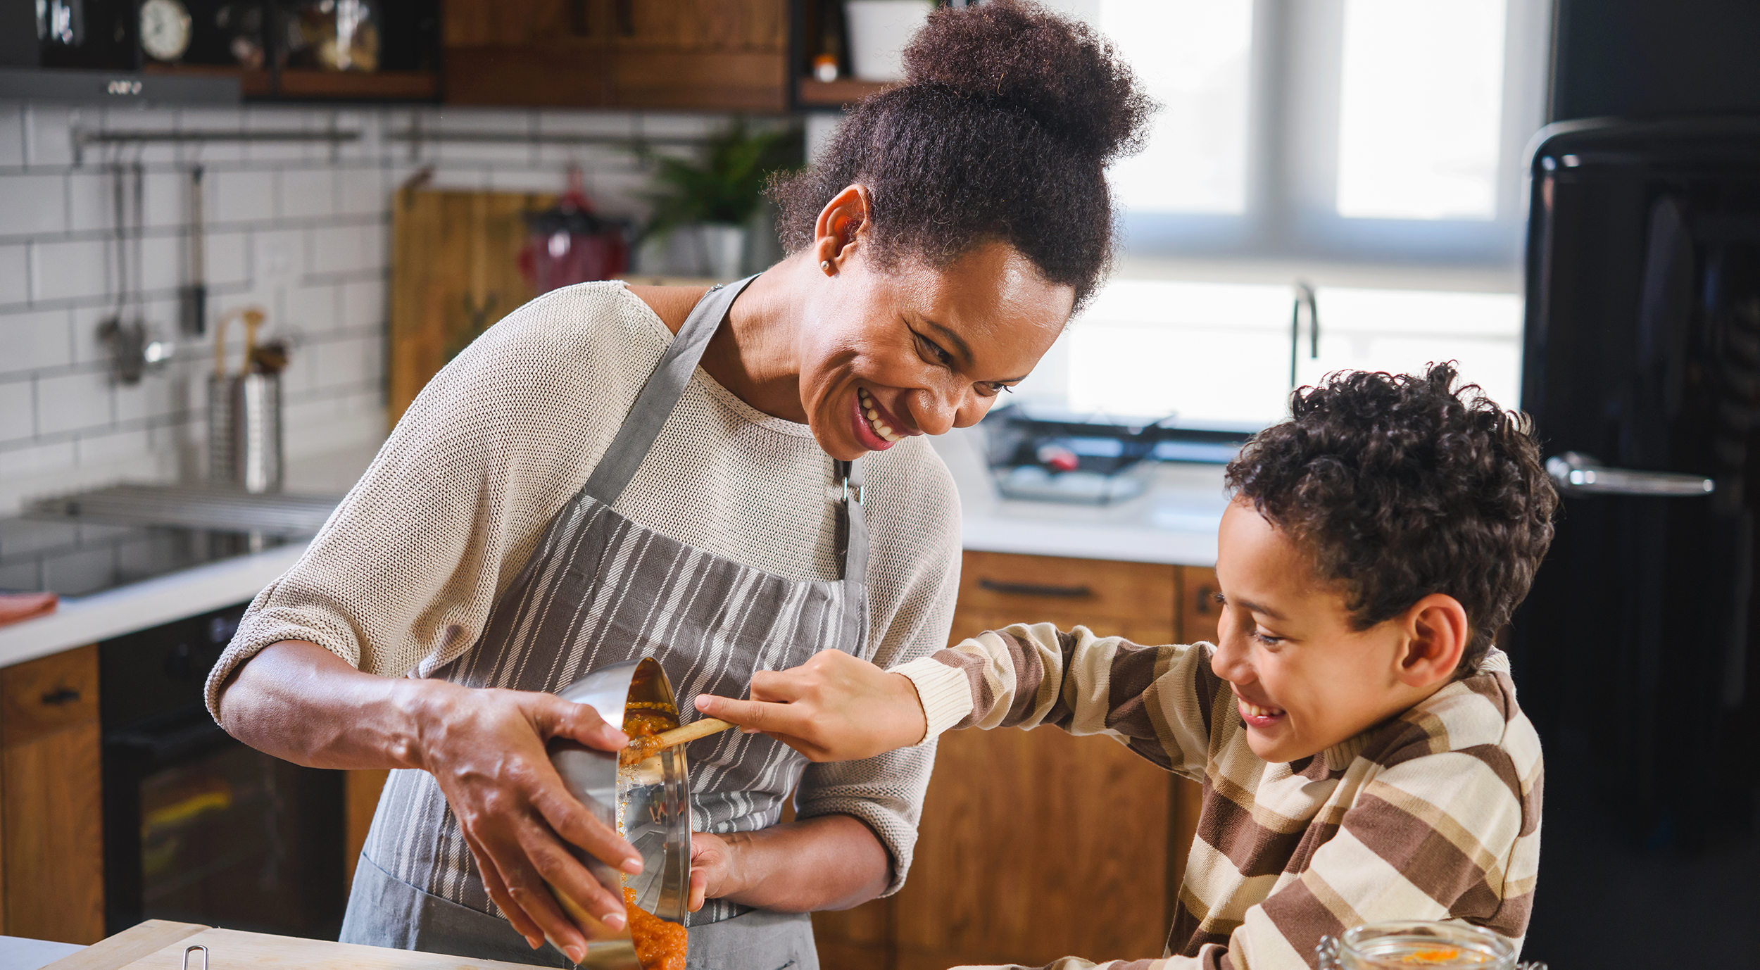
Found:
[[[1216,563],[1216,525],[1227,500],[1218,465],[1160,465],[1149,489],[1114,505],[1014,502],[996,496],[980,458],[980,433],[935,442],[954,472],[966,549],[1089,560]],[[341,495],[373,449],[350,449],[290,467],[289,491]],[[0,667],[144,630],[255,597],[306,551],[290,542],[90,597],[63,599],[49,616],[0,627]]]

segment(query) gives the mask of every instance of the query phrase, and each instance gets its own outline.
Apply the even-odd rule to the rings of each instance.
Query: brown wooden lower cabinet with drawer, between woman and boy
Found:
[[[1206,593],[1206,588],[1209,593]],[[1214,639],[1214,572],[968,551],[952,639],[1014,621],[1160,644]],[[1200,789],[1107,738],[942,736],[905,889],[813,914],[820,961],[945,970],[1160,956]]]

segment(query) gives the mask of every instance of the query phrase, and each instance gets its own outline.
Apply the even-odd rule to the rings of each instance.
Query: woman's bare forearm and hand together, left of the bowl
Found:
[[[218,715],[239,741],[294,764],[433,775],[484,889],[533,949],[549,937],[576,963],[586,958],[586,937],[546,882],[623,926],[621,894],[600,885],[568,843],[623,871],[639,871],[641,856],[568,794],[544,748],[572,738],[621,750],[628,739],[593,708],[553,694],[380,678],[315,643],[282,641],[239,664]]]

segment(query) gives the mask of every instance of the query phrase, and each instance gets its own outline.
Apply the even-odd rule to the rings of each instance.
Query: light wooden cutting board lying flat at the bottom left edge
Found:
[[[301,940],[271,933],[213,930],[188,922],[150,919],[107,940],[69,954],[44,970],[178,970],[185,947],[208,947],[211,970],[239,966],[299,966],[301,970],[514,970],[523,963],[470,959],[436,952],[391,951]],[[201,954],[190,956],[190,968],[201,966]]]

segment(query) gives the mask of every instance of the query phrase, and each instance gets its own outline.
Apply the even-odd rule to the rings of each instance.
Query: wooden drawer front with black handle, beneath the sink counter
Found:
[[[1077,616],[1172,625],[1177,590],[1176,567],[1019,556],[968,551],[959,574],[961,609],[1007,614],[1037,623]]]

